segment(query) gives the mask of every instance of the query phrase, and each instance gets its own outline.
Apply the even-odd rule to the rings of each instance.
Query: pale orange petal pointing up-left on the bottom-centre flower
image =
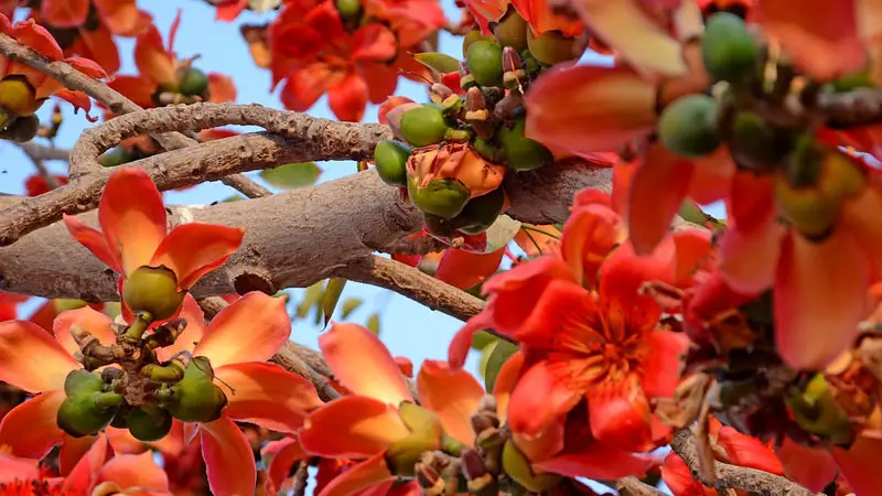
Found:
[[[352,392],[395,407],[413,400],[395,359],[370,331],[358,324],[332,323],[331,331],[319,337],[319,346],[336,378]]]

